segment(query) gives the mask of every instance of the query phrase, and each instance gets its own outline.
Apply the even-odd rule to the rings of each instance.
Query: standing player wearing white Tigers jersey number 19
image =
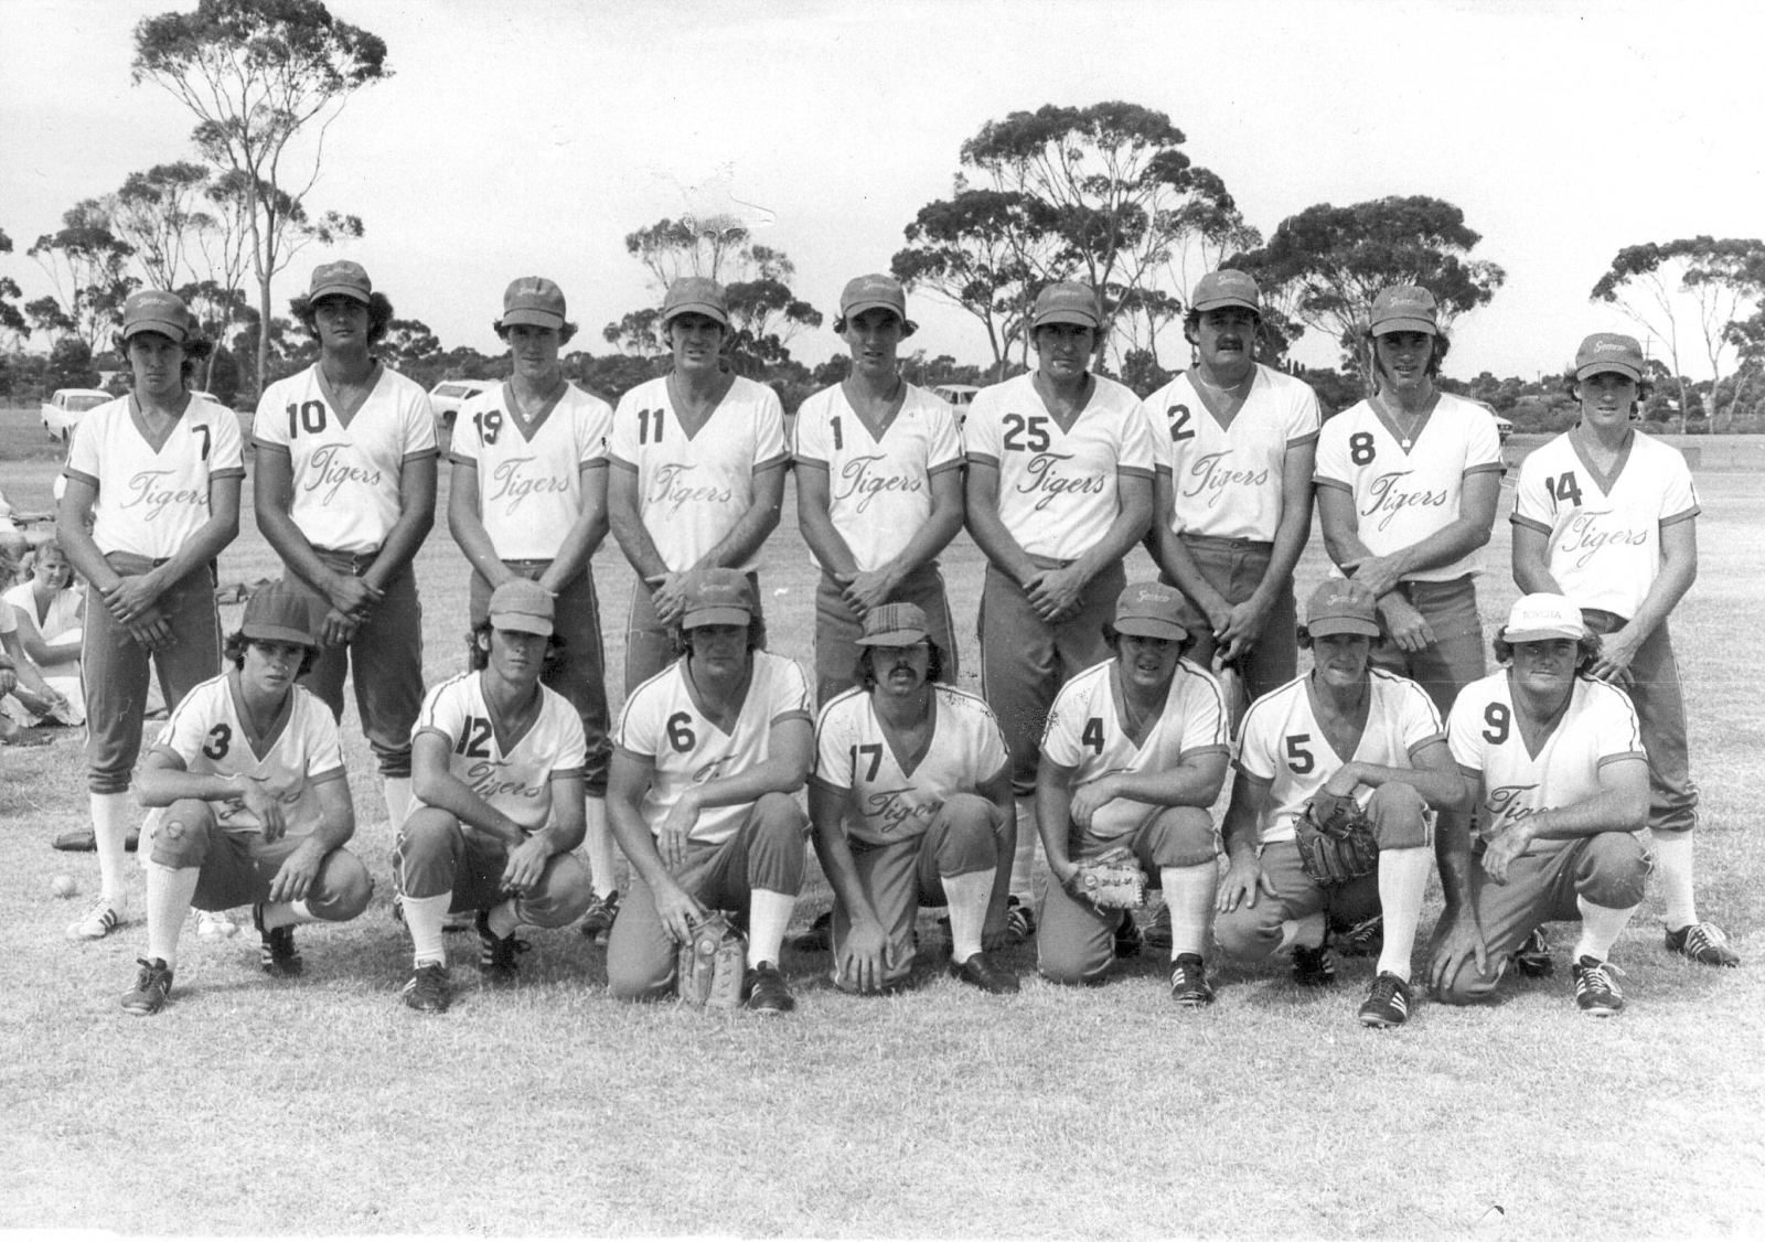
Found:
[[[542,677],[582,718],[588,759],[588,864],[595,905],[588,935],[605,933],[620,909],[607,829],[607,681],[600,600],[590,559],[607,536],[607,436],[612,406],[563,376],[560,349],[575,335],[563,289],[521,277],[503,293],[496,335],[508,342],[508,381],[468,400],[454,434],[448,529],[471,563],[471,625],[503,582],[531,579],[556,602],[563,642]]]

